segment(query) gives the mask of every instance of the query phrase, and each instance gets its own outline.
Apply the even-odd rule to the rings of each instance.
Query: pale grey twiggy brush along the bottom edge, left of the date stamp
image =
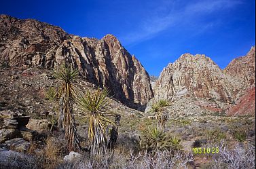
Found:
[[[193,161],[191,153],[181,153],[172,151],[156,151],[156,153],[124,154],[122,152],[107,153],[96,155],[90,158],[84,157],[83,160],[64,162],[58,169],[92,169],[92,168],[113,168],[113,169],[132,169],[132,168],[187,168],[189,162]]]

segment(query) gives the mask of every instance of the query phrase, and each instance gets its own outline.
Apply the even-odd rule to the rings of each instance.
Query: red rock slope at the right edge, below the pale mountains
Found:
[[[227,110],[227,115],[255,115],[255,88],[247,90],[236,105]]]

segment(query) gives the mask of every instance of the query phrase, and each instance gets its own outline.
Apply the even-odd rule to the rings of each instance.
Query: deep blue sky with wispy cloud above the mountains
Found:
[[[184,53],[222,69],[255,45],[255,0],[1,1],[0,14],[35,18],[74,35],[111,33],[150,75]]]

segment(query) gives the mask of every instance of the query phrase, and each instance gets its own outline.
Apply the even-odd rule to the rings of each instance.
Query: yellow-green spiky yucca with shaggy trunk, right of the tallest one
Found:
[[[106,113],[109,108],[109,90],[104,88],[102,92],[98,89],[94,94],[87,92],[78,100],[82,111],[86,112],[89,117],[88,143],[92,154],[105,153],[109,132],[107,126],[113,125],[109,119],[113,115]]]

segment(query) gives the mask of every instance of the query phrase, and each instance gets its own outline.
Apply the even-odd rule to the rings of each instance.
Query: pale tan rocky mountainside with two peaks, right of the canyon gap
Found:
[[[224,113],[237,104],[237,100],[248,88],[253,87],[255,47],[251,48],[246,56],[233,60],[224,70],[204,55],[183,54],[162,71],[154,88],[155,96],[149,102],[146,111],[150,110],[153,102],[166,99],[172,102],[169,111],[176,115],[184,112],[193,115]],[[249,102],[251,105],[253,100]],[[255,114],[255,107],[251,108],[249,112]]]

